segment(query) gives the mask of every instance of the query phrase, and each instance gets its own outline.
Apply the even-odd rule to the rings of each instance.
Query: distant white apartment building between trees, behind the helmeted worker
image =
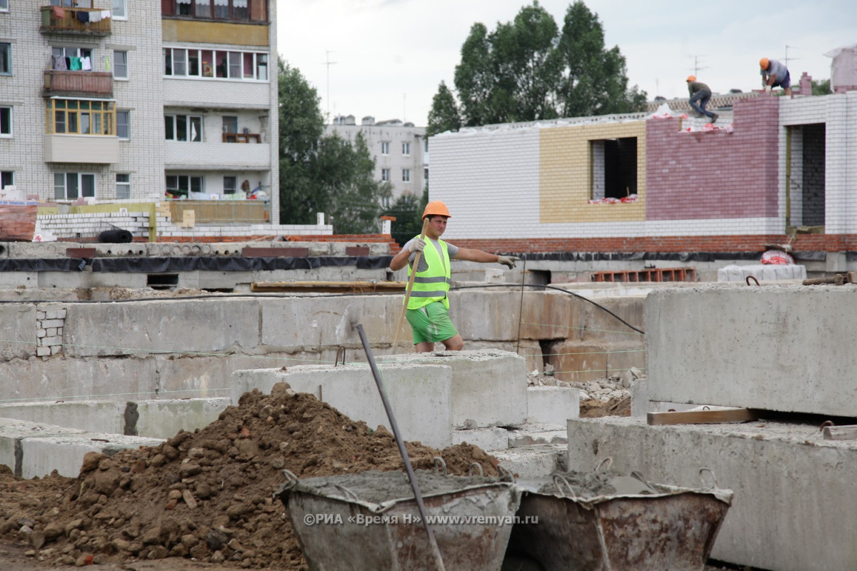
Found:
[[[325,128],[326,134],[339,134],[353,142],[363,134],[372,158],[375,158],[375,177],[393,187],[391,202],[404,194],[423,195],[428,181],[428,139],[424,127],[399,119],[375,122],[365,116],[357,125],[353,115],[337,116]],[[389,206],[386,204],[385,206]]]

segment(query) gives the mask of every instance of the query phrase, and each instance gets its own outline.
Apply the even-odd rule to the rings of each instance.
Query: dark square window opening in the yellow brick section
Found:
[[[593,199],[637,193],[637,137],[590,141]]]

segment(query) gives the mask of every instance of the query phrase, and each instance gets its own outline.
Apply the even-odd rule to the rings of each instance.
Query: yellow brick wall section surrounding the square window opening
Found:
[[[644,121],[547,128],[539,135],[539,219],[542,223],[645,220]],[[627,137],[637,137],[637,201],[590,205],[590,141]]]

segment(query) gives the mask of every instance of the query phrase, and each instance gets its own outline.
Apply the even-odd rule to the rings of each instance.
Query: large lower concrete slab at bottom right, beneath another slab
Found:
[[[645,419],[568,421],[568,467],[613,469],[698,487],[699,471],[734,491],[711,556],[776,571],[857,568],[857,441],[824,440],[816,425],[770,421],[649,426]]]

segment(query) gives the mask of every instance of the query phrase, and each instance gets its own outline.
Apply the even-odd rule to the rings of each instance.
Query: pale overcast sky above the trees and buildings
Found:
[[[830,78],[824,53],[857,44],[853,0],[584,0],[604,44],[626,57],[629,84],[649,98],[686,97],[695,73],[713,92],[758,89],[758,60],[784,61],[792,82]],[[543,0],[557,26],[569,2]],[[440,81],[453,75],[470,26],[493,31],[524,0],[277,0],[278,51],[318,90],[321,111],[427,124]],[[788,45],[788,50],[787,46]],[[328,65],[327,62],[330,62]],[[329,94],[329,97],[328,97]]]

